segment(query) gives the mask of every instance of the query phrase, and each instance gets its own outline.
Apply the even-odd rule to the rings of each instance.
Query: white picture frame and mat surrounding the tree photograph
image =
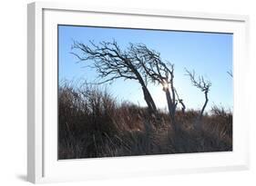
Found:
[[[84,17],[88,17],[85,19]],[[233,152],[58,161],[56,157],[56,25],[172,29],[234,34]],[[27,11],[27,180],[76,181],[171,173],[249,169],[249,119],[244,98],[249,17],[169,10],[32,3]]]

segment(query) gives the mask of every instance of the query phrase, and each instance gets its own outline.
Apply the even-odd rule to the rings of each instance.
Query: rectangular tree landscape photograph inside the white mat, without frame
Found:
[[[58,25],[58,159],[232,151],[229,33]]]

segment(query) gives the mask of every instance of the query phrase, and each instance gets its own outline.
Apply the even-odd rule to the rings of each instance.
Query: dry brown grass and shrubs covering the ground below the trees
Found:
[[[232,151],[232,113],[222,108],[202,116],[200,132],[193,128],[200,111],[178,110],[174,133],[168,113],[118,103],[102,87],[64,83],[58,92],[59,159]]]

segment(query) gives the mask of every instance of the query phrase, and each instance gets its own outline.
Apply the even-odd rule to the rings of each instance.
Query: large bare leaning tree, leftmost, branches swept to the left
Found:
[[[140,63],[131,57],[129,51],[122,50],[116,41],[99,44],[90,41],[90,45],[74,42],[72,49],[80,52],[72,53],[79,61],[93,62],[89,67],[96,69],[98,78],[101,79],[98,83],[108,83],[119,78],[138,81],[144,100],[148,104],[149,113],[157,113],[156,104],[148,91],[147,80],[139,72]]]

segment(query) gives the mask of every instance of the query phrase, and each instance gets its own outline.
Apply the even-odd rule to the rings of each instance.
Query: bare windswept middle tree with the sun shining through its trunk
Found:
[[[130,44],[129,54],[138,61],[139,72],[143,74],[147,81],[161,84],[166,93],[169,115],[176,130],[175,113],[177,104],[181,103],[182,110],[185,111],[185,104],[179,99],[179,95],[174,87],[174,65],[164,63],[160,54],[149,49],[145,44]],[[176,95],[178,100],[176,99]]]

